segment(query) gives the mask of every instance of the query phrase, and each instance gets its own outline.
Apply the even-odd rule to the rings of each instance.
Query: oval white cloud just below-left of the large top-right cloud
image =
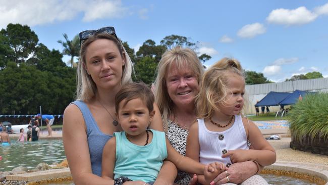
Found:
[[[247,24],[244,27],[242,27],[237,35],[244,38],[252,38],[256,35],[263,34],[266,32],[266,28],[263,26],[263,24],[260,23],[254,23],[254,24]]]

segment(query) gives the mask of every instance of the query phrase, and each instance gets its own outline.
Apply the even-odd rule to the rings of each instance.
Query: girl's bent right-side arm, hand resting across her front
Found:
[[[245,123],[246,122],[246,123]],[[244,125],[248,125],[248,140],[254,150],[230,150],[222,157],[230,156],[231,162],[243,162],[248,160],[257,161],[262,166],[271,165],[276,162],[275,149],[265,140],[259,128],[254,122],[243,118]]]

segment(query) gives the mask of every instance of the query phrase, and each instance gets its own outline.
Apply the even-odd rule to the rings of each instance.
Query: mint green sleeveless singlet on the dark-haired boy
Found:
[[[168,152],[165,132],[150,130],[153,138],[146,146],[129,142],[124,131],[114,133],[116,137],[114,178],[125,176],[132,180],[155,181],[163,160],[168,157]]]

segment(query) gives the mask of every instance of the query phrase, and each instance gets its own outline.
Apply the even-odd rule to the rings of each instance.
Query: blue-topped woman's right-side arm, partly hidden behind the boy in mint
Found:
[[[154,111],[155,111],[155,115],[149,127],[154,130],[164,131],[163,122],[159,113],[159,109],[155,103],[154,103]],[[174,180],[176,179],[177,173],[178,173],[177,167],[172,162],[164,161],[157,175],[155,184],[160,184],[160,185],[173,184]]]

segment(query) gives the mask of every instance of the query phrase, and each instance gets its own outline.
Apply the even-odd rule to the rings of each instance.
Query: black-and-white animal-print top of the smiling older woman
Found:
[[[186,144],[189,130],[180,127],[168,119],[168,131],[166,136],[173,148],[175,148],[181,155],[186,156]],[[178,170],[178,175],[174,181],[180,185],[188,185],[191,177],[187,172]]]

